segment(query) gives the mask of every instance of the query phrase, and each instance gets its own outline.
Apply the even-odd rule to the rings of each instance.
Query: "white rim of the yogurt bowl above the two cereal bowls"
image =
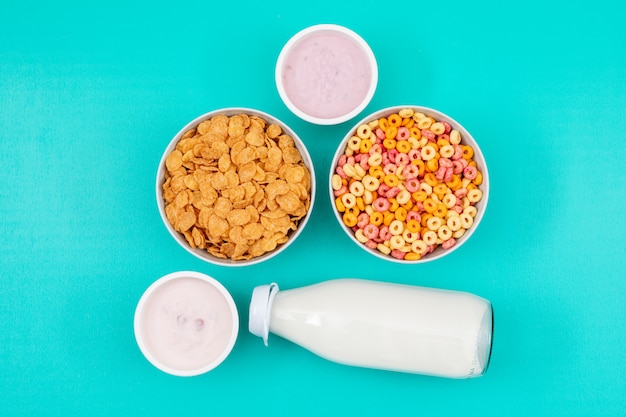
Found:
[[[359,103],[359,105],[355,107],[352,111],[344,115],[336,116],[336,117],[332,117],[328,119],[311,116],[303,112],[302,110],[300,110],[293,103],[293,101],[291,101],[291,99],[289,98],[288,94],[285,91],[283,81],[282,81],[283,66],[284,66],[283,63],[285,62],[287,56],[289,55],[293,47],[295,47],[298,43],[300,43],[302,40],[304,40],[308,36],[311,36],[318,32],[337,32],[344,36],[347,36],[352,41],[356,42],[357,45],[361,47],[361,49],[367,56],[367,60],[370,64],[371,72],[372,72],[372,79],[370,81],[369,88],[367,90],[365,98],[361,101],[361,103]],[[340,124],[340,123],[343,123],[350,119],[355,118],[371,102],[372,98],[374,97],[374,93],[376,92],[376,88],[378,87],[378,63],[376,61],[376,56],[374,55],[372,48],[358,33],[356,33],[355,31],[345,26],[324,23],[324,24],[308,26],[300,30],[299,32],[294,34],[287,41],[287,43],[285,43],[285,45],[283,46],[283,48],[281,49],[278,55],[278,59],[276,60],[274,76],[275,76],[276,88],[278,90],[278,95],[280,96],[283,103],[287,106],[287,108],[292,113],[294,113],[296,116],[298,116],[299,118],[309,123],[313,123],[317,125],[336,125],[336,124]]]

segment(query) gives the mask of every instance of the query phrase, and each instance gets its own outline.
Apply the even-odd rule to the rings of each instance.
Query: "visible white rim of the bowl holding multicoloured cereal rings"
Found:
[[[436,121],[449,123],[452,129],[457,129],[461,133],[461,137],[462,137],[461,145],[470,145],[473,148],[474,150],[473,160],[476,161],[476,166],[478,170],[481,172],[482,178],[483,178],[482,184],[478,186],[478,188],[483,193],[482,199],[474,204],[474,206],[476,207],[476,216],[473,218],[472,226],[466,230],[463,236],[461,236],[458,239],[455,239],[456,243],[451,248],[443,249],[441,245],[438,245],[434,251],[425,254],[419,260],[397,259],[390,255],[385,255],[377,249],[369,248],[364,243],[359,242],[359,240],[357,240],[355,236],[355,232],[353,232],[351,228],[349,228],[348,226],[344,224],[343,219],[342,219],[342,214],[337,210],[337,207],[335,205],[335,199],[337,197],[335,197],[334,190],[332,188],[332,177],[336,173],[336,168],[339,162],[339,158],[344,154],[348,141],[350,140],[352,136],[355,135],[355,131],[357,127],[359,127],[360,125],[364,123],[369,123],[373,120],[380,119],[382,117],[387,117],[393,113],[398,113],[402,109],[412,109],[415,112],[424,113],[426,116],[431,116]],[[433,261],[435,259],[439,259],[446,255],[449,255],[453,251],[463,246],[463,244],[465,244],[465,242],[468,241],[470,236],[474,233],[474,231],[480,224],[483,218],[483,215],[485,213],[485,209],[487,208],[487,202],[489,200],[489,173],[487,171],[487,163],[485,162],[485,158],[482,154],[482,151],[480,150],[480,147],[478,146],[478,143],[472,137],[472,135],[456,120],[452,119],[450,116],[444,113],[441,113],[440,111],[437,111],[428,107],[411,106],[411,105],[394,106],[394,107],[388,107],[388,108],[379,110],[373,114],[370,114],[369,116],[364,117],[361,121],[359,121],[352,128],[350,128],[350,130],[348,130],[346,136],[343,138],[343,140],[339,144],[337,151],[335,153],[335,156],[333,157],[331,166],[330,166],[329,191],[330,191],[330,202],[331,202],[331,205],[333,206],[333,212],[335,213],[335,217],[337,221],[339,222],[339,225],[341,226],[343,231],[350,237],[350,239],[353,242],[355,242],[360,248],[364,249],[368,253],[378,258],[381,258],[387,261],[392,261],[392,262],[397,262],[397,263],[402,263],[402,264],[418,264],[418,263],[425,263],[425,262]]]

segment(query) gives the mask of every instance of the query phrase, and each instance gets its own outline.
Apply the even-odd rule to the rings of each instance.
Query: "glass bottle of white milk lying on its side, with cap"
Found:
[[[492,308],[475,295],[358,279],[264,287],[253,294],[250,331],[265,339],[269,331],[331,361],[368,368],[449,378],[487,368]]]

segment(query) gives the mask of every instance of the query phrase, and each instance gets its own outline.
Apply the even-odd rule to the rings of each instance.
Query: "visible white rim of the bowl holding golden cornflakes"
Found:
[[[169,220],[167,219],[166,213],[165,213],[165,202],[163,199],[163,184],[165,182],[165,161],[168,157],[168,155],[175,149],[176,145],[178,144],[178,142],[180,141],[181,137],[185,134],[185,132],[187,132],[188,130],[197,127],[201,122],[211,119],[214,116],[217,115],[226,115],[226,116],[234,116],[234,115],[238,115],[238,114],[247,114],[249,116],[258,116],[263,118],[268,125],[269,124],[277,124],[279,125],[282,130],[283,133],[290,135],[293,138],[294,144],[296,149],[300,152],[300,155],[302,157],[302,161],[304,163],[304,165],[306,166],[306,168],[309,170],[310,173],[310,177],[311,177],[311,192],[310,192],[310,205],[309,205],[309,209],[307,214],[299,220],[298,222],[298,227],[296,230],[291,231],[289,233],[289,239],[287,240],[287,242],[280,244],[276,247],[276,249],[267,252],[261,256],[257,256],[255,258],[251,258],[248,260],[233,260],[233,259],[229,259],[229,258],[220,258],[217,256],[214,256],[212,254],[210,254],[209,252],[207,252],[204,249],[198,249],[198,248],[192,248],[189,243],[187,242],[187,240],[185,239],[185,237],[177,232],[174,227],[172,226],[172,224],[169,222]],[[180,246],[182,246],[187,252],[189,252],[190,254],[194,255],[195,257],[202,259],[203,261],[206,262],[210,262],[212,264],[216,264],[216,265],[221,265],[221,266],[248,266],[248,265],[253,265],[259,262],[263,262],[265,260],[268,260],[270,258],[273,258],[274,256],[278,255],[279,253],[283,252],[285,249],[287,249],[287,247],[289,247],[289,245],[291,245],[296,238],[300,235],[300,233],[302,232],[302,230],[304,230],[304,227],[306,226],[310,215],[311,215],[311,211],[313,209],[313,205],[314,205],[314,200],[315,200],[315,172],[314,172],[314,168],[313,168],[313,162],[311,160],[311,156],[309,155],[308,150],[306,149],[306,146],[304,145],[304,143],[302,142],[302,140],[298,137],[298,135],[289,127],[287,126],[285,123],[281,122],[280,120],[278,120],[277,118],[275,118],[274,116],[271,116],[267,113],[264,113],[262,111],[259,110],[255,110],[255,109],[249,109],[249,108],[244,108],[244,107],[233,107],[233,108],[224,108],[224,109],[218,109],[218,110],[214,110],[211,112],[208,112],[206,114],[203,114],[197,118],[195,118],[194,120],[192,120],[191,122],[187,123],[187,125],[185,125],[175,136],[174,138],[171,140],[171,142],[169,143],[169,145],[167,146],[167,148],[165,149],[165,152],[163,153],[163,156],[161,158],[161,161],[159,162],[159,167],[157,170],[157,175],[156,175],[156,200],[157,200],[157,206],[159,209],[159,213],[161,215],[161,219],[163,220],[163,224],[165,225],[165,227],[167,228],[168,232],[170,233],[170,235],[174,238],[174,240],[176,240],[176,242],[178,242],[180,244]]]

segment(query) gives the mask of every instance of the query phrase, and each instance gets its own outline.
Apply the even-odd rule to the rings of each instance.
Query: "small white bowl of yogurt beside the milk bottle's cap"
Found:
[[[239,333],[239,315],[217,280],[180,271],[146,289],[135,310],[134,331],[139,349],[156,368],[195,376],[228,357]]]

